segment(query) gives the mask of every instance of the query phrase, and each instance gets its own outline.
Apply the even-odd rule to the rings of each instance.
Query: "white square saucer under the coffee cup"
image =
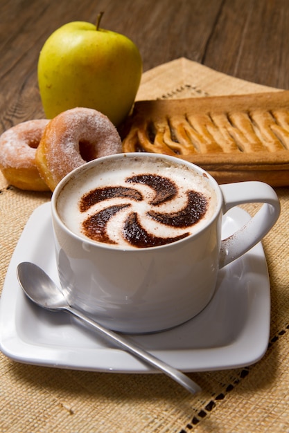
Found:
[[[0,349],[13,360],[89,371],[155,372],[130,353],[112,347],[67,313],[44,311],[21,291],[16,268],[33,261],[55,282],[50,203],[30,216],[12,255],[0,300]],[[222,235],[248,219],[240,208],[227,212]],[[182,371],[209,371],[251,365],[268,347],[270,282],[261,243],[219,272],[216,293],[189,322],[159,333],[129,335],[155,356]]]

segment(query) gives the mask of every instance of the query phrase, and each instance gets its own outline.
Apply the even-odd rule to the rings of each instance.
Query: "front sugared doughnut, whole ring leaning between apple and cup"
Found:
[[[109,118],[94,109],[77,107],[60,113],[46,126],[36,164],[53,191],[76,167],[121,151],[121,138]]]

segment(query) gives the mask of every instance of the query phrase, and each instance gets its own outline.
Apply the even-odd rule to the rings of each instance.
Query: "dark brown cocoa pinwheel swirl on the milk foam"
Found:
[[[208,203],[206,197],[200,192],[188,190],[186,192],[187,201],[184,208],[177,212],[158,212],[157,207],[159,205],[172,201],[178,194],[177,185],[164,176],[139,174],[126,178],[125,182],[134,184],[140,183],[152,188],[155,192],[155,196],[149,202],[152,209],[147,212],[147,216],[171,228],[189,228],[195,223],[198,223],[207,211]],[[115,198],[124,199],[125,203],[110,205],[110,200]],[[89,210],[91,206],[102,201],[107,201],[107,207],[85,219],[85,221],[82,222],[82,232],[94,241],[115,244],[116,242],[110,239],[107,234],[107,223],[117,212],[127,209],[126,212],[128,212],[128,215],[123,224],[122,235],[123,238],[134,247],[148,248],[161,246],[189,236],[189,232],[179,234],[175,237],[157,237],[149,233],[143,228],[137,212],[134,212],[132,209],[134,202],[142,200],[143,195],[141,192],[133,187],[100,187],[91,190],[81,197],[79,203],[80,212],[85,212]]]

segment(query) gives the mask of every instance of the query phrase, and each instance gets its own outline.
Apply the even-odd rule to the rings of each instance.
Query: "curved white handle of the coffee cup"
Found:
[[[242,228],[221,241],[219,266],[222,268],[250,250],[267,234],[280,214],[280,203],[272,187],[263,182],[240,182],[220,185],[222,213],[243,203],[264,203]]]

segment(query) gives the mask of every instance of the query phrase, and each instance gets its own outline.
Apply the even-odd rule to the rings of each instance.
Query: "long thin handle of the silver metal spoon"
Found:
[[[117,346],[122,347],[123,349],[129,351],[138,358],[141,358],[142,360],[148,362],[148,364],[152,365],[153,367],[156,367],[157,369],[163,371],[167,376],[175,380],[177,383],[179,383],[179,385],[182,385],[182,387],[186,388],[192,394],[201,391],[199,385],[193,382],[193,380],[191,380],[188,376],[183,374],[182,371],[171,367],[170,365],[166,364],[166,362],[161,361],[159,358],[156,358],[151,353],[148,353],[147,351],[141,349],[141,347],[139,347],[137,344],[131,342],[130,340],[127,340],[126,338],[123,338],[122,335],[114,333],[113,331],[110,331],[110,329],[107,329],[102,325],[98,324],[97,322],[94,322],[94,320],[91,320],[89,317],[82,314],[75,308],[72,308],[71,306],[68,306],[67,308],[65,308],[65,310],[72,315],[75,315],[83,322],[86,322],[87,324],[92,326],[96,331],[98,331],[98,334],[105,335],[108,340],[111,340]]]

